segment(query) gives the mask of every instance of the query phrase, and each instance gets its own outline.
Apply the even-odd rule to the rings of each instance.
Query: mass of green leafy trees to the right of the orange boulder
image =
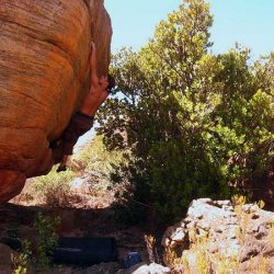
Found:
[[[141,205],[161,220],[181,218],[193,198],[228,197],[228,182],[270,168],[274,55],[252,64],[238,45],[212,55],[212,24],[204,0],[185,0],[139,53],[113,58],[119,93],[100,132],[128,153],[113,178],[124,183],[122,204],[135,205],[132,218],[147,212]]]

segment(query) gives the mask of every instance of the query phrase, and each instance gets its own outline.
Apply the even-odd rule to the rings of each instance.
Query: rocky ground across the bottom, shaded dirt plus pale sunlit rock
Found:
[[[164,230],[148,226],[123,227],[114,217],[114,190],[103,187],[98,173],[79,173],[71,183],[69,206],[48,207],[30,197],[30,181],[24,192],[0,206],[0,236],[16,230],[24,239],[35,233],[34,216],[44,212],[59,216],[58,235],[64,237],[114,237],[118,261],[85,269],[71,265],[58,267],[67,274],[161,274],[161,273],[274,273],[274,213],[263,210],[262,203],[235,201],[193,201],[186,217]],[[152,233],[167,249],[160,264],[150,263],[144,236]],[[161,253],[161,249],[158,249]],[[128,252],[137,251],[141,263],[125,269]],[[11,272],[13,251],[0,244],[0,273]],[[163,265],[169,265],[165,267]],[[55,273],[55,271],[53,271]]]

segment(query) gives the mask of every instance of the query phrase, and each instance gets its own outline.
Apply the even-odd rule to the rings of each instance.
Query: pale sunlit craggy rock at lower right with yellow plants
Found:
[[[274,273],[273,224],[274,213],[256,205],[202,198],[193,201],[185,219],[165,230],[162,244],[183,254],[187,273],[199,273],[203,262],[208,273]]]

